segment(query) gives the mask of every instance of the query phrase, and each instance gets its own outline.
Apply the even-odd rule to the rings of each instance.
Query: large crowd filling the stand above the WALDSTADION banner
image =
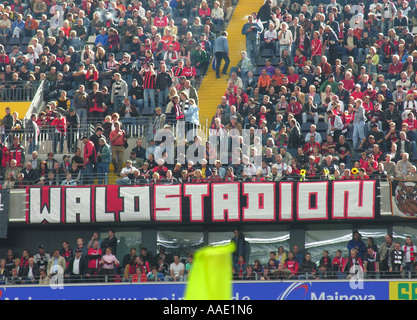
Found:
[[[3,187],[103,183],[110,163],[121,184],[416,179],[417,41],[410,31],[417,8],[403,0],[265,1],[242,26],[246,51],[213,106],[210,135],[227,135],[238,147],[218,165],[216,146],[199,145],[206,137],[179,137],[177,144],[203,148],[207,163],[176,154],[180,163],[167,164],[164,150],[155,157],[158,129],[175,134],[179,123],[199,125],[197,80],[214,56],[217,73],[226,60],[226,73],[223,30],[235,4],[3,3],[5,79],[17,73],[43,80],[48,102],[25,124],[6,111]],[[144,134],[149,145],[144,149],[138,140],[123,167],[130,137],[124,128],[147,112],[153,115]],[[80,154],[76,133],[87,133],[87,123],[95,133],[80,139]],[[53,153],[62,153],[66,142],[76,155],[61,160],[48,154],[45,166],[36,154],[40,134],[51,137]],[[20,146],[22,137],[30,141],[28,150]],[[25,161],[24,151],[34,159]]]

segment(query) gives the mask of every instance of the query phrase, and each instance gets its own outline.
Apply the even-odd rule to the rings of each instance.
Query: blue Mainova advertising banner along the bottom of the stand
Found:
[[[185,283],[3,286],[0,300],[182,300]],[[388,281],[235,282],[233,300],[389,300]]]

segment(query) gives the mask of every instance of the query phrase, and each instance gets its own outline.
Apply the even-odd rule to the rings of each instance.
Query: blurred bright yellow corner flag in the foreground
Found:
[[[221,247],[205,247],[194,255],[185,288],[186,300],[230,300],[232,298],[232,242]]]

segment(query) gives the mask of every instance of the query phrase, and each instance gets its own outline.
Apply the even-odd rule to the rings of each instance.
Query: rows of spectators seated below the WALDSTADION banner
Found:
[[[416,246],[411,236],[407,236],[401,245],[387,234],[385,242],[378,247],[372,237],[365,244],[360,233],[355,231],[352,240],[347,243],[347,255],[337,250],[332,258],[327,250],[323,250],[323,256],[317,262],[312,261],[309,252],[302,253],[298,245],[294,245],[292,250],[279,246],[264,261],[255,259],[250,263],[250,245],[245,235],[236,229],[231,242],[236,244],[233,253],[234,280],[416,276]],[[133,247],[119,260],[116,233],[111,229],[108,238],[101,240],[98,233],[94,233],[87,245],[82,238],[77,239],[73,248],[68,241],[64,241],[61,249],[54,249],[51,253],[46,251],[44,245],[40,245],[36,254],[24,250],[19,258],[9,249],[6,257],[0,260],[0,283],[49,284],[57,281],[54,276],[61,277],[60,281],[65,283],[186,281],[192,264],[193,252],[189,252],[185,258],[169,254],[163,247],[156,255],[144,247],[139,250]]]

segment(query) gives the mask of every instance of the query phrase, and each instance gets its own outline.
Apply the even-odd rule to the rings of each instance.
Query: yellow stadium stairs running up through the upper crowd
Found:
[[[242,35],[241,31],[243,25],[247,22],[248,15],[253,11],[257,12],[263,3],[263,0],[239,0],[226,29],[230,58],[228,71],[230,71],[230,67],[236,66],[239,62],[240,52],[246,50],[245,36]],[[221,79],[216,79],[216,73],[210,66],[198,90],[200,115],[209,119],[215,114],[216,107],[220,104],[220,98],[226,90],[229,76],[221,75],[221,77]]]

